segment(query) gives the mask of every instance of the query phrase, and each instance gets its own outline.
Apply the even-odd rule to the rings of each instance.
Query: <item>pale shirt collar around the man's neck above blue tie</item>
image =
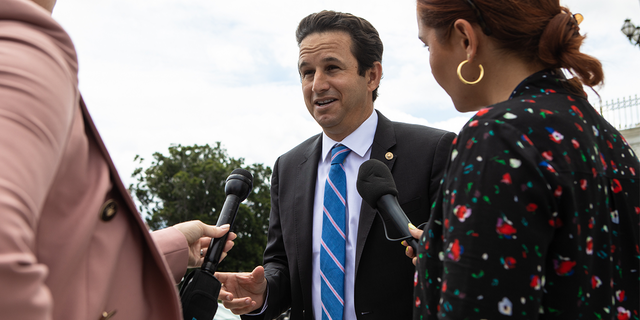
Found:
[[[373,144],[373,136],[376,134],[378,127],[378,113],[374,110],[369,118],[365,120],[354,132],[344,138],[342,141],[335,141],[324,132],[322,132],[322,161],[326,160],[331,153],[331,148],[336,144],[345,145],[355,152],[358,156],[364,157],[367,150]]]

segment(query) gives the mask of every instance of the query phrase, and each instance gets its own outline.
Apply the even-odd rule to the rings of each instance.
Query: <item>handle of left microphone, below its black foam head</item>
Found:
[[[231,232],[239,206],[240,198],[238,196],[235,194],[227,195],[227,199],[225,199],[224,204],[222,205],[222,211],[220,212],[216,226],[219,227],[224,224],[229,224],[229,232]],[[224,245],[227,243],[227,238],[229,237],[229,232],[220,238],[211,239],[209,248],[207,249],[207,254],[205,255],[204,262],[202,263],[202,270],[208,271],[211,274],[216,272]]]

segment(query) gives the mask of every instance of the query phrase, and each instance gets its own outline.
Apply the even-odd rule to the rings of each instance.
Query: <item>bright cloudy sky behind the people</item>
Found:
[[[636,0],[562,1],[584,15],[583,51],[605,69],[603,100],[640,93],[640,48],[620,32],[640,24]],[[457,132],[455,111],[431,76],[413,0],[58,0],[53,17],[73,39],[80,90],[125,183],[170,144],[221,141],[232,157],[273,165],[320,132],[304,106],[295,28],[323,9],[369,20],[385,45],[376,108],[392,120]],[[592,103],[597,97],[590,94]]]

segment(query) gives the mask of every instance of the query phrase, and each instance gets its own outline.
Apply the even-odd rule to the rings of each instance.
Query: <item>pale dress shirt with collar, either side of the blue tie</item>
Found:
[[[371,157],[371,145],[373,144],[373,136],[376,133],[377,126],[378,113],[374,111],[356,131],[342,141],[334,141],[326,134],[322,134],[322,154],[318,162],[318,177],[316,178],[316,192],[313,202],[313,255],[311,258],[311,265],[313,266],[311,297],[313,313],[316,319],[322,319],[320,298],[320,238],[322,237],[324,185],[329,175],[329,169],[331,168],[331,148],[336,144],[342,144],[351,149],[351,153],[349,153],[344,162],[347,177],[347,251],[344,279],[344,319],[356,320],[356,310],[354,306],[355,258],[358,223],[360,222],[360,206],[362,204],[362,198],[356,189],[356,180],[358,178],[360,165]]]

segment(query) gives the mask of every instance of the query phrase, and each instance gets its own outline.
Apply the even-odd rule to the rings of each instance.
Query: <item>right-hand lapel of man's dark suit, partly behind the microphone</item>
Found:
[[[378,111],[376,110],[376,112]],[[376,128],[376,134],[373,137],[373,144],[371,145],[371,159],[380,160],[389,167],[389,170],[393,170],[396,155],[394,154],[391,160],[387,160],[385,155],[395,145],[396,134],[393,129],[393,124],[389,119],[378,112],[378,126]],[[358,242],[356,244],[356,278],[358,276],[362,250],[364,249],[364,244],[367,241],[367,236],[369,235],[369,231],[371,230],[371,225],[373,224],[376,214],[376,211],[363,200],[362,207],[360,209],[360,223],[358,225]]]

